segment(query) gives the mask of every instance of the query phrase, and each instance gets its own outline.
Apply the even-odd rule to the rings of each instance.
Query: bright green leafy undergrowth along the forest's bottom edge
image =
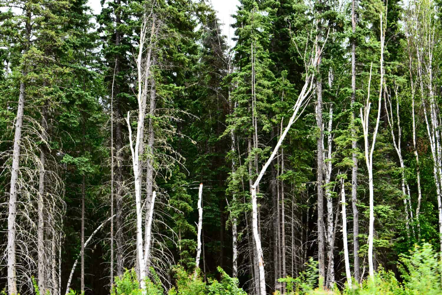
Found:
[[[346,286],[339,290],[324,290],[318,277],[318,263],[310,259],[305,272],[297,278],[286,277],[279,282],[286,285],[285,295],[442,295],[442,264],[440,255],[430,244],[415,246],[409,255],[400,257],[399,269],[403,282],[399,282],[391,271],[380,268],[376,273],[374,284],[366,279],[361,286]],[[181,266],[176,266],[175,287],[167,295],[247,295],[238,287],[238,279],[231,278],[222,268],[218,267],[221,280],[209,279],[208,283],[194,273],[188,273]],[[152,280],[146,280],[145,295],[164,295],[160,279],[151,270]],[[139,288],[134,270],[126,271],[121,277],[115,278],[114,295],[143,295]],[[274,293],[278,295],[278,292]]]

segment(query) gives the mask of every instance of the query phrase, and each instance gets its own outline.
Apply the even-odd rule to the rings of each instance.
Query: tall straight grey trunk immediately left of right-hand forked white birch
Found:
[[[351,0],[351,31],[353,33],[351,41],[351,159],[353,166],[351,168],[351,207],[353,210],[353,263],[354,263],[354,280],[359,283],[359,212],[358,212],[358,148],[356,140],[356,129],[354,121],[354,103],[356,101],[356,15],[355,2]]]

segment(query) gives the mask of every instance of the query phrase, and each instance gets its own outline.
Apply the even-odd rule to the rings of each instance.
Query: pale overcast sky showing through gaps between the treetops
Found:
[[[231,38],[233,37],[234,31],[230,27],[233,23],[232,17],[230,15],[236,12],[236,5],[239,5],[238,0],[210,0],[212,2],[213,8],[218,11],[218,19],[224,25],[221,27],[223,34],[229,39],[230,46],[233,45]],[[100,0],[88,0],[89,6],[94,10],[95,14],[99,14],[101,11]]]

